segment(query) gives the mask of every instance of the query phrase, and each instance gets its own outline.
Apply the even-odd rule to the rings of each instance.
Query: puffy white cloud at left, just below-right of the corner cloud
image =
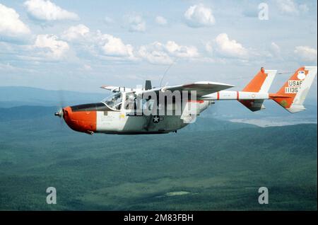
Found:
[[[58,40],[56,35],[37,35],[33,47],[47,50],[42,54],[50,59],[62,59],[69,51],[69,44]]]

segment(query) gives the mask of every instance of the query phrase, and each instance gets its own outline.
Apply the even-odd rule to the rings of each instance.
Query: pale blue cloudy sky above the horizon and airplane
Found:
[[[164,84],[240,89],[265,67],[286,72],[276,91],[298,67],[317,65],[317,1],[0,0],[0,86],[158,86],[173,62]]]

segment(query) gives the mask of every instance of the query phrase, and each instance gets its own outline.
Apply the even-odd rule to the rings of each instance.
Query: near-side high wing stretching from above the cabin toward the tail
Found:
[[[196,91],[196,97],[201,97],[208,95],[210,93],[216,93],[218,91],[222,91],[228,88],[232,88],[234,86],[226,83],[217,83],[217,82],[210,82],[210,81],[199,81],[195,83],[188,83],[183,85],[177,85],[177,86],[166,86],[163,88],[153,88],[151,90],[148,90],[149,92],[154,91]],[[143,93],[148,92],[143,91]]]

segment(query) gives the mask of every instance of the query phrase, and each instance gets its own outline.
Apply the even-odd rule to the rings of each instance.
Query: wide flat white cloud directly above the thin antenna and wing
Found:
[[[173,57],[189,59],[199,57],[199,52],[194,46],[168,41],[166,44],[153,42],[151,45],[143,45],[139,48],[138,55],[152,64],[171,64]]]

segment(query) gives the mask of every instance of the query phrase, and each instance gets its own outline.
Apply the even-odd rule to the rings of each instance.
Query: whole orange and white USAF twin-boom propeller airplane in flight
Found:
[[[305,110],[303,103],[317,75],[317,67],[300,67],[278,92],[269,93],[276,74],[276,70],[261,67],[242,91],[225,91],[233,86],[211,81],[159,88],[152,87],[151,81],[146,81],[143,88],[102,86],[114,94],[99,103],[61,108],[54,115],[63,118],[71,129],[86,134],[167,134],[195,122],[196,116],[219,100],[238,101],[253,112],[265,109],[264,100],[274,100],[290,113]],[[181,94],[174,95],[177,92]],[[172,101],[163,98],[160,103],[158,95],[165,93],[172,95]],[[183,98],[182,93],[187,98]],[[150,94],[155,97],[139,98]],[[182,106],[177,105],[176,99]],[[162,108],[164,113],[160,114]],[[145,113],[146,110],[151,113]]]

